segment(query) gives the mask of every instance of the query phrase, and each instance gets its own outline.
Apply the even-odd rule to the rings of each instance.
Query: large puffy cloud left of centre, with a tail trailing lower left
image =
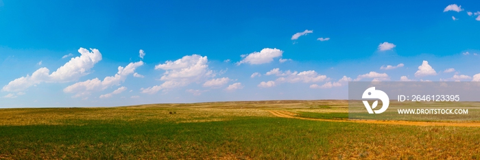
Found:
[[[208,77],[213,77],[213,71],[208,70],[208,59],[201,55],[185,55],[176,61],[167,61],[164,64],[155,66],[156,70],[165,70],[160,81],[160,85],[149,88],[141,88],[145,94],[154,94],[160,90],[177,88],[188,85],[193,82],[202,81]]]

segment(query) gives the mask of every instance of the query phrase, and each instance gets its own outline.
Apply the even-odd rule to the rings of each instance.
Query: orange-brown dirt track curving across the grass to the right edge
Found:
[[[296,116],[297,114],[289,111],[270,110],[271,114],[281,118],[295,118],[300,120],[318,120],[324,122],[354,122],[354,123],[370,123],[370,124],[394,124],[394,125],[409,125],[409,126],[471,126],[480,127],[480,123],[457,123],[457,122],[412,122],[404,120],[333,120],[333,119],[318,119],[318,118],[302,118]]]

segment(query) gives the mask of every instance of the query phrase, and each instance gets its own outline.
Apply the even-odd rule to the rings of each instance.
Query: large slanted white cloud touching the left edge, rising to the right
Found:
[[[90,69],[101,60],[101,53],[97,49],[91,49],[91,51],[80,48],[78,49],[78,52],[81,54],[80,57],[70,59],[69,62],[60,66],[51,75],[49,75],[50,70],[48,68],[39,68],[32,76],[27,75],[26,77],[10,81],[8,85],[3,86],[2,91],[18,92],[43,82],[75,81],[84,75],[88,75]]]

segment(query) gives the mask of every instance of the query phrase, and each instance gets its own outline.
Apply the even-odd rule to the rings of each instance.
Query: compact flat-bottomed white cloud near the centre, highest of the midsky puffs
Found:
[[[237,62],[237,65],[240,64],[267,64],[274,61],[276,57],[282,57],[283,51],[280,49],[262,49],[260,52],[250,53],[248,55],[241,55],[243,59],[240,62]]]

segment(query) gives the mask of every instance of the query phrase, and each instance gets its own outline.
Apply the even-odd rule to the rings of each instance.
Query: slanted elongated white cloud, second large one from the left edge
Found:
[[[125,68],[119,66],[117,74],[110,77],[105,77],[103,81],[100,79],[88,79],[86,81],[77,82],[73,85],[69,85],[67,88],[63,89],[65,93],[77,93],[73,97],[88,96],[91,92],[99,92],[105,90],[114,85],[120,85],[128,75],[131,75],[135,72],[135,69],[139,66],[142,66],[143,62],[130,63]]]

